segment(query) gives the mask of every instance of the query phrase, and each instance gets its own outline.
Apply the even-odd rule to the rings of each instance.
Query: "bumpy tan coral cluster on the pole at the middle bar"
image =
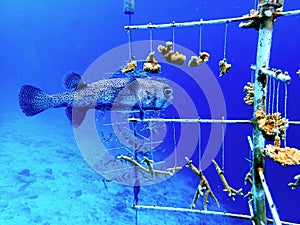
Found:
[[[266,140],[275,141],[277,135],[284,138],[288,120],[282,118],[279,112],[266,115],[262,109],[258,109],[255,112],[255,120]]]

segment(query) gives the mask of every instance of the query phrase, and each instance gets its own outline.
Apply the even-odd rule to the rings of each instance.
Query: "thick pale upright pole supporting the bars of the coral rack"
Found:
[[[259,69],[269,67],[270,50],[272,43],[272,31],[274,18],[272,12],[274,8],[270,6],[268,0],[262,0],[261,21],[259,28],[257,55],[256,55],[256,71],[254,82],[254,111],[253,116],[258,109],[266,111],[266,75],[259,74]],[[259,170],[264,171],[264,157],[261,149],[264,148],[265,140],[258,129],[258,124],[254,123],[253,128],[253,202],[254,202],[254,221],[256,225],[267,224],[265,192],[259,177]]]

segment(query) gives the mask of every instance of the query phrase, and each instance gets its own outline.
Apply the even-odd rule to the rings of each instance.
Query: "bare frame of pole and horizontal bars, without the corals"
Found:
[[[267,83],[268,76],[276,78],[282,82],[289,82],[290,77],[276,76],[276,72],[268,71],[270,50],[272,45],[272,33],[274,21],[278,17],[299,15],[300,10],[286,11],[283,12],[284,0],[260,0],[257,10],[251,10],[250,15],[244,15],[235,18],[225,18],[225,19],[214,19],[214,20],[199,20],[193,22],[183,22],[183,23],[166,23],[166,24],[146,24],[146,25],[128,25],[124,29],[162,29],[162,28],[172,28],[172,27],[190,27],[190,26],[200,26],[200,25],[210,25],[210,24],[220,24],[220,23],[231,23],[231,22],[243,22],[248,21],[248,23],[241,23],[241,28],[255,28],[259,32],[258,45],[257,45],[257,55],[256,55],[256,65],[252,67],[255,70],[255,83],[254,83],[254,107],[253,107],[253,117],[255,118],[256,113],[259,109],[266,111],[266,93],[267,93]],[[253,208],[252,204],[249,203],[250,215],[214,212],[207,210],[195,210],[195,209],[185,209],[185,208],[174,208],[174,207],[159,207],[159,206],[142,206],[133,205],[134,209],[155,209],[155,210],[166,210],[166,211],[180,211],[180,212],[193,212],[200,214],[209,215],[219,215],[234,217],[240,219],[251,220],[253,224],[262,225],[267,223],[274,223],[276,225],[280,224],[296,224],[283,222],[280,220],[277,213],[275,204],[272,200],[271,193],[268,189],[264,171],[264,156],[262,155],[262,149],[265,146],[265,139],[262,132],[259,130],[259,124],[255,119],[253,120],[225,120],[225,119],[163,119],[163,118],[150,118],[150,119],[136,119],[130,118],[131,122],[180,122],[180,123],[242,123],[242,124],[252,124],[253,125],[253,144],[252,148],[252,183],[253,183]],[[299,125],[299,121],[289,121],[288,124]],[[270,220],[266,217],[266,202],[267,199],[270,212],[273,219]]]

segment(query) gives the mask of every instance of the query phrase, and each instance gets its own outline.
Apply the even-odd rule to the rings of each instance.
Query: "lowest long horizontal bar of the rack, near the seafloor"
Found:
[[[252,220],[251,216],[244,215],[244,214],[226,213],[226,212],[217,212],[217,211],[209,211],[209,210],[199,210],[199,209],[189,209],[189,208],[132,205],[132,209],[152,209],[152,210],[162,210],[162,211],[172,211],[172,212],[190,212],[190,213],[198,213],[198,214],[204,214],[204,215],[216,215],[216,216],[225,216],[225,217],[238,218],[238,219],[244,219],[244,220]],[[273,223],[273,220],[268,219],[268,223]],[[291,223],[291,222],[285,222],[285,221],[281,221],[281,224],[300,225],[299,223]]]

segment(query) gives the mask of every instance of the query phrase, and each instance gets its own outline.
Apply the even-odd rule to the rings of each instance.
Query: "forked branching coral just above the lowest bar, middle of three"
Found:
[[[203,175],[203,172],[201,170],[198,170],[193,165],[192,160],[190,160],[188,157],[185,157],[185,160],[188,162],[187,167],[189,167],[200,178],[200,183],[199,183],[197,191],[195,193],[191,208],[194,209],[196,207],[196,202],[197,202],[198,198],[200,197],[200,195],[204,195],[204,200],[203,200],[204,210],[207,210],[207,203],[208,203],[207,198],[209,195],[211,195],[211,197],[214,199],[214,201],[216,202],[218,207],[220,207],[220,204],[219,204],[216,196],[212,192],[206,177]]]

